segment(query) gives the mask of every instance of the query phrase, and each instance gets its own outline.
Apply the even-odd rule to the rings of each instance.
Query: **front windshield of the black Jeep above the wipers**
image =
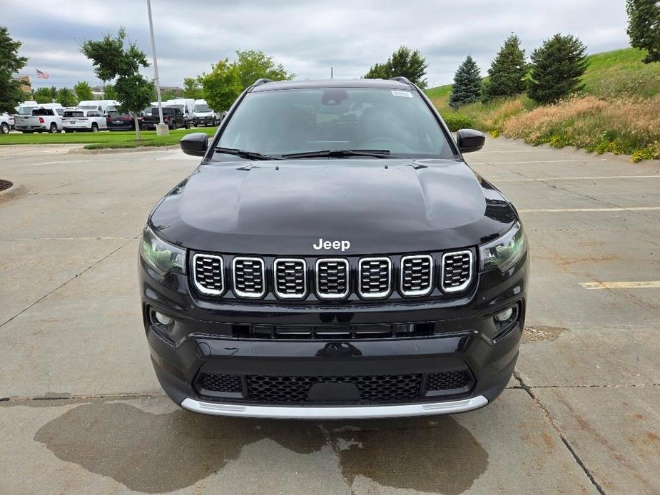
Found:
[[[264,155],[348,149],[387,150],[392,158],[454,155],[440,124],[415,91],[384,88],[248,93],[218,146]]]

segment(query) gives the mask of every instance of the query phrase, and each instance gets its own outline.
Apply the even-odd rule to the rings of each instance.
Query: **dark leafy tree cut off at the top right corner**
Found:
[[[627,0],[630,44],[646,49],[644,63],[660,62],[660,2],[657,0]]]

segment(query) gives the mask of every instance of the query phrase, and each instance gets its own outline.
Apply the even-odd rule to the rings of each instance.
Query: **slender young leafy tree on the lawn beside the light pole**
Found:
[[[115,81],[118,111],[133,113],[136,139],[140,139],[137,113],[151,103],[153,83],[138,72],[141,67],[149,66],[146,53],[133,41],[125,46],[125,41],[126,31],[119,28],[117,36],[108,33],[101,41],[85,41],[81,52],[92,61],[101,81]]]

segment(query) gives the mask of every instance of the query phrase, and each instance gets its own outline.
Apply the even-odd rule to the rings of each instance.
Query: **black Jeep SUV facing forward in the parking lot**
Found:
[[[156,375],[195,412],[468,411],[514,369],[527,244],[427,97],[394,80],[260,80],[143,233]]]

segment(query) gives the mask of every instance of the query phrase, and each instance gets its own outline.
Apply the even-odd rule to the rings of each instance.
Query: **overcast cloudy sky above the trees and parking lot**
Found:
[[[237,49],[261,49],[298,78],[362,76],[398,46],[426,56],[430,86],[472,55],[482,73],[511,32],[527,53],[556,32],[589,53],[628,46],[624,0],[152,0],[161,84],[210,70]],[[151,58],[146,0],[0,0],[0,24],[23,42],[33,87],[98,84],[81,41],[126,27]],[[51,74],[36,78],[36,68]],[[152,76],[151,68],[146,73]]]

